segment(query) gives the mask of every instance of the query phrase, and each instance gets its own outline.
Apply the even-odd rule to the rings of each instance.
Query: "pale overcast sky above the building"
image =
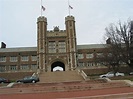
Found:
[[[133,0],[69,0],[76,20],[77,44],[104,43],[110,23],[133,20]],[[65,29],[68,0],[42,0],[48,30]],[[37,18],[41,0],[0,0],[0,42],[7,47],[37,46]]]

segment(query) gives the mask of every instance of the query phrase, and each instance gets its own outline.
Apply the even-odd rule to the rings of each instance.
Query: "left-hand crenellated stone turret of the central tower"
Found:
[[[37,55],[38,67],[45,70],[46,63],[46,32],[47,32],[47,18],[41,16],[37,19]]]

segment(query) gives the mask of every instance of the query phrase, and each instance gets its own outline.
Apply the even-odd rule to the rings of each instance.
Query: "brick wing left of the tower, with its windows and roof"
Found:
[[[1,48],[0,72],[36,71],[36,47]]]

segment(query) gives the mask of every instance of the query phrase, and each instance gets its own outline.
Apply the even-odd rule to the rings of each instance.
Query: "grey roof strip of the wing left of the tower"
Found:
[[[37,51],[37,47],[0,48],[0,52],[28,52]]]

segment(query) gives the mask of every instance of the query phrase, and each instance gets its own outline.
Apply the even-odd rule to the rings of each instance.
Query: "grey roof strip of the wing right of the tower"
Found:
[[[94,49],[94,48],[105,48],[107,44],[89,44],[89,45],[77,45],[77,49]]]

